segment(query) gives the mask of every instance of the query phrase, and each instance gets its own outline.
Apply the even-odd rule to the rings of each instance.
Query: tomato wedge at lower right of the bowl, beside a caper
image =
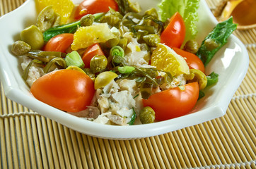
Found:
[[[143,99],[144,107],[153,108],[156,113],[156,121],[178,118],[189,113],[197,103],[199,85],[197,82],[192,82],[183,87],[185,90],[175,87],[153,94],[149,99]]]

